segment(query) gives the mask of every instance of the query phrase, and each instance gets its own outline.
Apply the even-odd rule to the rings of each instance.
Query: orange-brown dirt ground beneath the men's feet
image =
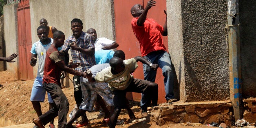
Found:
[[[21,81],[14,77],[10,72],[2,71],[0,72],[0,84],[3,87],[0,88],[0,117],[8,120],[11,124],[28,124],[33,126],[32,119],[37,118],[38,116],[33,109],[33,106],[30,102],[31,88],[33,85],[33,79],[28,81]],[[62,89],[68,98],[70,104],[69,113],[73,110],[75,106],[75,100],[73,97],[73,87]],[[138,118],[137,122],[131,123],[128,113],[126,110],[122,110],[119,116],[119,120],[124,120],[123,124],[117,125],[117,128],[205,128],[209,126],[204,125],[195,125],[195,126],[183,126],[183,124],[166,124],[163,126],[158,126],[154,121],[150,119],[139,120],[139,106],[138,102],[131,102],[132,111],[135,113],[135,116]],[[47,102],[47,95],[45,102],[41,104],[42,112],[45,113],[49,109],[49,104]],[[98,116],[99,112],[86,113],[89,119],[89,126],[93,128],[107,128],[103,126],[102,119],[103,116]],[[67,119],[70,118],[67,116]],[[4,124],[7,121],[0,122]],[[55,118],[55,123],[57,123],[57,118]],[[3,126],[3,125],[2,125]],[[18,126],[19,127],[19,126]],[[20,126],[23,127],[23,126]],[[24,127],[23,127],[24,128]]]

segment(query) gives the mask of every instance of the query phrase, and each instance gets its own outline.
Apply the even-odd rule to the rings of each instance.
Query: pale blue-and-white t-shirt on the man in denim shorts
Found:
[[[40,40],[38,42],[35,42],[32,45],[31,53],[38,55],[38,74],[37,77],[43,77],[44,76],[44,61],[46,57],[46,51],[49,49],[51,44],[53,43],[53,39],[51,39],[51,43],[43,45]]]

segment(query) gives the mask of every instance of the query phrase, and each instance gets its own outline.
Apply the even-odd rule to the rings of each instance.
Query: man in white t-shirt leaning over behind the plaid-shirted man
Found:
[[[115,49],[119,46],[117,42],[109,40],[107,38],[97,38],[97,32],[95,29],[88,29],[86,33],[89,33],[93,37],[93,43],[95,46],[95,52],[99,50]]]

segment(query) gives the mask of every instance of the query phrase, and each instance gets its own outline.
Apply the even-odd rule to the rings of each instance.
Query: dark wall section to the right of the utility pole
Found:
[[[243,97],[256,97],[256,0],[239,0]]]

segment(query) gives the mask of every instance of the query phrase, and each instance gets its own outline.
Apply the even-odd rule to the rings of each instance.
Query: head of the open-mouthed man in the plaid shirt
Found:
[[[75,38],[79,38],[79,36],[82,33],[82,29],[83,29],[83,22],[82,22],[82,20],[74,18],[71,21],[71,30],[72,30],[73,35],[75,36]]]

